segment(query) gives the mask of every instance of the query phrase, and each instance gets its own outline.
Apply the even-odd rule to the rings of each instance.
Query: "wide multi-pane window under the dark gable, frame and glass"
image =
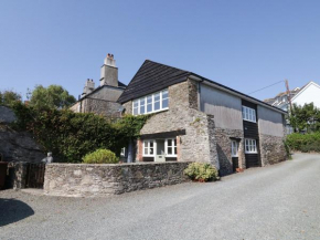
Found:
[[[135,100],[132,103],[134,115],[157,113],[169,108],[168,90]]]

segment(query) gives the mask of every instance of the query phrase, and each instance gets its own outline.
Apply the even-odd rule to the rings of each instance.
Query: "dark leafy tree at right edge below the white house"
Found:
[[[303,106],[294,104],[289,113],[289,122],[295,131],[318,132],[320,131],[320,109],[314,107],[313,103]]]

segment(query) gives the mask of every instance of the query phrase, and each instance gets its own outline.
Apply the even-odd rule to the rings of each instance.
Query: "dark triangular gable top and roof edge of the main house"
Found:
[[[243,97],[247,100],[253,100],[255,102],[258,102],[260,105],[266,105],[268,107],[271,107],[276,111],[280,111],[282,113],[287,113],[286,111],[279,109],[275,106],[271,106],[263,101],[259,101],[255,97],[248,96],[244,93],[241,93],[238,91],[235,91],[231,87],[227,87],[225,85],[222,85],[220,83],[216,83],[214,81],[211,81],[209,79],[205,79],[201,75],[198,75],[195,73],[180,70],[173,66],[164,65],[161,63],[157,63],[150,60],[146,60],[143,64],[140,66],[134,79],[128,84],[127,88],[122,92],[118,103],[126,103],[135,98],[139,98],[141,96],[146,96],[148,94],[154,93],[157,91],[163,90],[168,86],[171,86],[177,83],[181,83],[188,80],[190,75],[200,77],[202,81],[207,81],[210,83],[213,83],[220,87],[223,87],[227,91],[232,91],[236,94],[242,95]]]

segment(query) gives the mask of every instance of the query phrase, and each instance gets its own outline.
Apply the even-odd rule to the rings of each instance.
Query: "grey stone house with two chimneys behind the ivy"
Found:
[[[117,100],[127,85],[118,80],[118,67],[114,55],[108,53],[100,69],[100,85],[95,88],[93,80],[87,80],[78,101],[71,107],[76,113],[96,113],[108,118],[121,116],[122,106]]]

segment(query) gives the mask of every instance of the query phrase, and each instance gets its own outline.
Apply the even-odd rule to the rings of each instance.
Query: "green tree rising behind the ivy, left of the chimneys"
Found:
[[[36,109],[44,108],[66,108],[76,102],[73,95],[60,85],[50,85],[44,87],[36,85],[32,93],[29,93],[30,105]]]

